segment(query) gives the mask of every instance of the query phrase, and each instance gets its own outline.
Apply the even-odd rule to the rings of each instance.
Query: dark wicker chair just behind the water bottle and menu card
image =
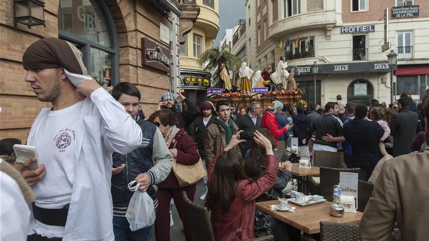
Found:
[[[320,195],[329,202],[333,201],[333,186],[340,182],[340,172],[359,173],[360,168],[320,167]]]

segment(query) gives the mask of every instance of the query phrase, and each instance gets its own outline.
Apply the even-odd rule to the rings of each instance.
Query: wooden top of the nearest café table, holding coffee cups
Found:
[[[329,214],[329,207],[332,203],[328,201],[304,207],[288,203],[289,205],[296,207],[294,213],[287,211],[273,211],[269,207],[269,205],[273,204],[278,204],[278,201],[273,200],[259,202],[256,203],[256,209],[271,215],[282,222],[292,225],[307,234],[320,233],[320,221],[359,224],[360,219],[362,218],[362,213],[359,211],[356,211],[356,213],[345,212],[344,216],[340,218],[333,217]]]

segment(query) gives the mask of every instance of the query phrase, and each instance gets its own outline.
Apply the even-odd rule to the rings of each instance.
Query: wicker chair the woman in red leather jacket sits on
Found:
[[[210,221],[209,209],[205,206],[194,204],[189,200],[186,192],[182,192],[183,199],[186,203],[188,219],[192,225],[192,238],[194,241],[215,241],[212,222]],[[273,241],[273,235],[260,238],[254,238],[248,241]]]

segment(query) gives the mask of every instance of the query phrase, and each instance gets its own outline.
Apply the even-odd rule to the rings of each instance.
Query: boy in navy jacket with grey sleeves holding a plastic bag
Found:
[[[142,139],[140,146],[131,153],[124,155],[113,153],[112,167],[112,200],[113,200],[113,231],[117,241],[149,241],[154,225],[136,231],[131,231],[125,218],[133,192],[128,189],[128,183],[136,180],[138,190],[147,192],[158,205],[155,184],[162,182],[171,171],[173,156],[165,145],[161,131],[151,122],[138,117],[140,92],[134,84],[122,82],[115,86],[112,96],[124,106],[141,128]]]

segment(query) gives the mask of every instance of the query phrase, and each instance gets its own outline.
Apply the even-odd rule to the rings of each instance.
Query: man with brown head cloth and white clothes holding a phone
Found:
[[[15,167],[36,201],[28,240],[114,240],[110,180],[112,153],[129,153],[141,129],[91,77],[69,42],[40,39],[22,57],[25,82],[51,102],[34,121],[27,145],[39,158]],[[30,170],[37,162],[39,167]]]

